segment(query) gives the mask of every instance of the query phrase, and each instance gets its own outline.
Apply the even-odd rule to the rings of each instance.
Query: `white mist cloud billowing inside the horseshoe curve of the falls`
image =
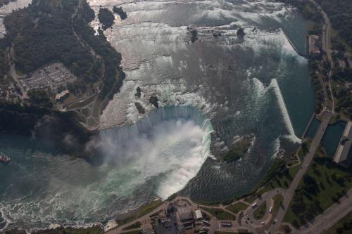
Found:
[[[170,119],[103,131],[98,145],[107,164],[138,171],[129,179],[139,184],[155,179],[156,195],[166,199],[196,176],[208,156],[203,153],[206,136],[207,131],[193,120]]]

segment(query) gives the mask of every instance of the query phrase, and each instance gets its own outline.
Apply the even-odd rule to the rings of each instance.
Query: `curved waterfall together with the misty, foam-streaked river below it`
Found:
[[[2,228],[87,225],[166,199],[196,176],[212,131],[194,108],[161,108],[134,126],[101,131],[90,143],[103,151],[101,166],[53,155],[40,140],[0,135],[12,159],[0,164]]]

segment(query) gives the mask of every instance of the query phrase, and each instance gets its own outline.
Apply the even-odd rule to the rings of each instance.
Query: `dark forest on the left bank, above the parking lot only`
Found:
[[[101,18],[114,18],[106,11],[101,8]],[[94,11],[87,1],[79,8],[75,0],[34,0],[28,8],[8,15],[6,40],[13,43],[16,70],[27,74],[59,61],[78,78],[71,87],[84,91],[99,84],[101,97],[112,97],[124,79],[121,55],[102,33],[95,34],[88,25],[92,20]]]

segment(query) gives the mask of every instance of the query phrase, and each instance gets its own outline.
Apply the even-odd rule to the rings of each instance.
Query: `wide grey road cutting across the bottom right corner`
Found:
[[[346,196],[341,198],[339,204],[333,204],[324,213],[317,216],[313,223],[308,223],[308,225],[300,228],[296,233],[323,233],[340,219],[343,219],[349,212],[352,212],[352,188],[348,191]]]

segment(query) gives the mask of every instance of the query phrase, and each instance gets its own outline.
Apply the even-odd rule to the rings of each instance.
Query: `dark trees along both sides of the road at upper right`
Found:
[[[322,25],[324,18],[319,9],[311,1],[280,0],[298,8],[305,18],[310,20],[308,34],[316,34],[322,37]],[[317,4],[327,13],[332,23],[332,92],[336,99],[337,112],[344,117],[352,118],[352,1],[329,1],[315,0]],[[321,44],[321,39],[319,43]],[[322,47],[322,45],[318,45]],[[322,56],[326,56],[322,54]],[[331,96],[327,86],[329,69],[331,65],[322,59],[322,56],[310,56],[309,68],[315,88],[315,112],[322,110],[322,103],[325,102],[325,93],[328,98]],[[317,72],[318,71],[318,72]]]

